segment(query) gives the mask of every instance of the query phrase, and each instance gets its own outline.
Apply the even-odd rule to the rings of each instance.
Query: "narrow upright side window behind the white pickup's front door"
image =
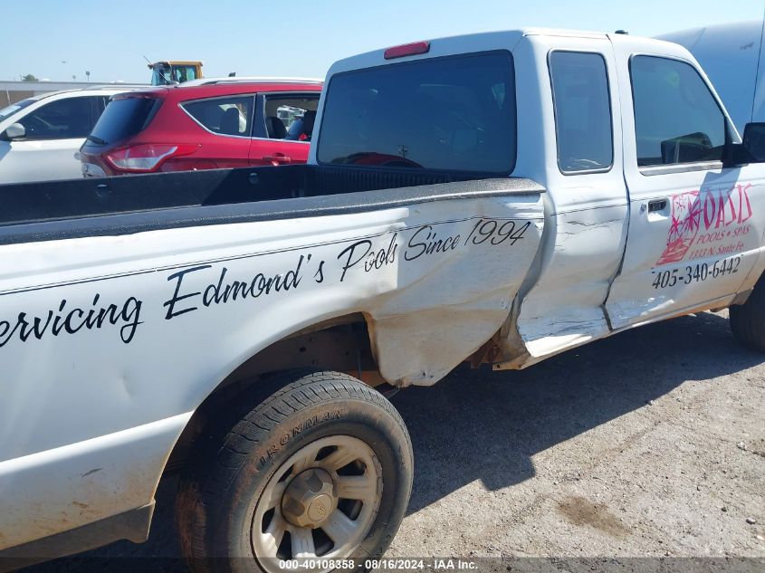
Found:
[[[606,61],[599,53],[550,53],[558,167],[607,170],[614,160]]]

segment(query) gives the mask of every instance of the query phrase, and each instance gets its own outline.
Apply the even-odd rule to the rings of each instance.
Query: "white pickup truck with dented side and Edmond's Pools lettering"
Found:
[[[343,568],[412,487],[387,392],[725,307],[765,350],[762,126],[684,48],[482,33],[326,86],[305,166],[0,186],[6,568],[145,540],[171,472],[196,571]]]

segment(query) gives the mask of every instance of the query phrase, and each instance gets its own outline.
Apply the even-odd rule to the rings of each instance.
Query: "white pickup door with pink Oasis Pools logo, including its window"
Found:
[[[765,167],[722,167],[725,131],[736,132],[684,53],[621,40],[617,60],[630,215],[611,326],[726,306],[760,252]]]

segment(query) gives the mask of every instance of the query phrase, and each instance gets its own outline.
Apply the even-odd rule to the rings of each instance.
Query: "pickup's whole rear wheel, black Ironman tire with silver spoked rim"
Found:
[[[363,564],[403,519],[412,449],[386,398],[335,372],[274,384],[281,389],[222,439],[206,440],[182,477],[178,530],[196,571],[271,573],[286,559]]]

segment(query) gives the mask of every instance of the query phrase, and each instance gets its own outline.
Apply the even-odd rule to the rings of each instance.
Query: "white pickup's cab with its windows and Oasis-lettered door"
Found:
[[[677,44],[554,30],[413,43],[336,63],[322,99],[310,161],[374,151],[383,166],[547,190],[537,274],[516,309],[527,352],[496,368],[725,307],[765,263],[753,216],[765,170],[726,164],[739,136]]]

